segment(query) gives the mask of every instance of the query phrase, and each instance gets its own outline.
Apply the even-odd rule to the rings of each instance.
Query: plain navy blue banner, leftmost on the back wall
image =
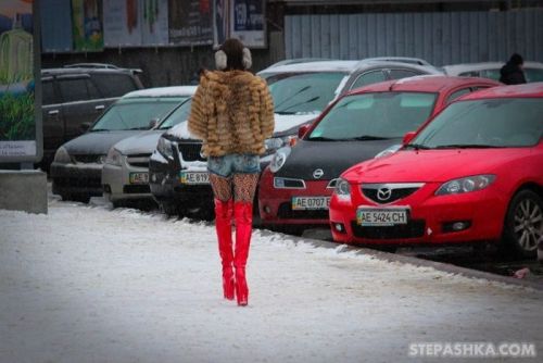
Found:
[[[72,38],[71,0],[40,0],[41,49],[45,53],[70,52],[74,49]]]

